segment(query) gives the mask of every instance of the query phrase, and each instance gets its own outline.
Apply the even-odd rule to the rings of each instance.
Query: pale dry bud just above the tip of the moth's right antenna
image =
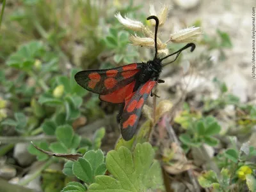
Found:
[[[202,30],[200,27],[189,27],[187,29],[182,29],[177,33],[173,33],[170,36],[170,41],[173,43],[186,43],[195,41],[196,38],[202,34]]]

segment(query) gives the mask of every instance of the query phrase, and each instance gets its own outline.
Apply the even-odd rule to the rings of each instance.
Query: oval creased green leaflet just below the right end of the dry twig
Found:
[[[78,179],[86,182],[86,184],[90,184],[93,182],[92,166],[84,158],[79,158],[77,161],[74,162],[73,173]]]

